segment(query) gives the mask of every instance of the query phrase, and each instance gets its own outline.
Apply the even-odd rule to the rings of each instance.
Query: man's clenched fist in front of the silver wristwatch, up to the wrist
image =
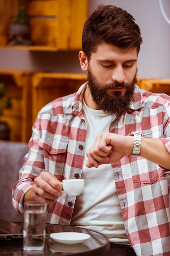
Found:
[[[110,164],[120,160],[125,155],[131,155],[133,144],[133,136],[102,132],[87,151],[88,161],[86,166],[98,167],[100,164]]]

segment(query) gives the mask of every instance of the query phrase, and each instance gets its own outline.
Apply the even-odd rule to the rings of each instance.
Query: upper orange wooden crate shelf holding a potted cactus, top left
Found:
[[[33,46],[8,46],[9,27],[26,7]],[[88,0],[0,0],[0,47],[30,50],[79,50]]]

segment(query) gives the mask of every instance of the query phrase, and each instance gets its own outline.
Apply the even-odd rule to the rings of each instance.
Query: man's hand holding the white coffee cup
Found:
[[[62,195],[62,183],[51,173],[43,171],[34,180],[32,200],[54,204],[57,197]],[[25,195],[26,196],[26,195]],[[24,200],[26,201],[26,199]]]

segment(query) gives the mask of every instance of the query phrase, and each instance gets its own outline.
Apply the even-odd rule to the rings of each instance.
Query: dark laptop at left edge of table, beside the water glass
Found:
[[[23,238],[23,228],[13,222],[0,219],[0,241]]]

